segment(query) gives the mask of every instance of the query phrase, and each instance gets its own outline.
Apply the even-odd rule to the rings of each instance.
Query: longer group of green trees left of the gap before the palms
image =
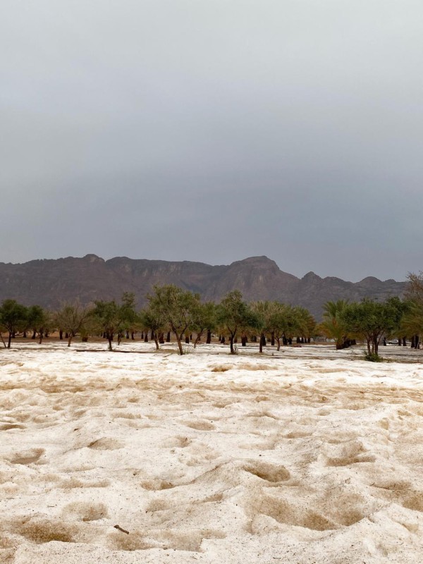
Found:
[[[0,306],[0,330],[8,333],[7,348],[17,333],[32,333],[32,338],[42,338],[51,331],[59,331],[68,338],[68,346],[74,336],[86,340],[89,335],[103,336],[112,350],[124,335],[132,336],[141,331],[150,333],[157,348],[159,343],[170,341],[171,333],[176,337],[178,351],[184,353],[183,341],[190,342],[195,333],[194,346],[206,336],[210,343],[212,333],[221,342],[229,341],[231,353],[240,338],[242,345],[248,339],[259,339],[260,351],[267,339],[272,345],[292,343],[293,338],[309,341],[314,334],[315,321],[303,307],[293,307],[280,302],[257,301],[247,303],[239,290],[229,292],[219,304],[202,302],[200,295],[173,285],[154,286],[147,296],[147,306],[137,311],[135,297],[124,293],[121,302],[97,301],[92,307],[82,307],[78,302],[65,304],[56,312],[47,312],[42,307],[25,307],[16,300],[4,300]],[[3,337],[1,337],[3,339]]]

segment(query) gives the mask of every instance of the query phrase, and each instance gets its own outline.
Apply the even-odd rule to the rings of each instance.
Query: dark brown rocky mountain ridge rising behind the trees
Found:
[[[75,298],[82,303],[118,299],[124,291],[135,293],[138,305],[142,306],[145,295],[156,283],[173,283],[215,302],[236,288],[247,301],[279,300],[302,305],[317,319],[328,300],[354,301],[366,296],[384,299],[402,295],[405,289],[405,282],[373,277],[353,283],[341,278],[320,278],[309,272],[297,278],[281,271],[267,257],[250,257],[228,266],[127,257],[105,261],[96,255],[0,263],[0,300],[14,298],[25,305],[39,304],[51,309]]]

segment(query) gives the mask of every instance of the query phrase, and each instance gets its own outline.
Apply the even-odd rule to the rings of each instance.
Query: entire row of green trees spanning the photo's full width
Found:
[[[326,302],[324,319],[317,325],[307,309],[277,301],[247,303],[239,290],[229,292],[219,304],[202,302],[200,295],[173,285],[154,286],[147,295],[147,305],[137,311],[135,296],[124,293],[121,301],[97,301],[91,307],[78,302],[63,305],[57,312],[47,312],[38,305],[25,307],[15,300],[4,300],[0,306],[0,331],[8,333],[7,344],[16,333],[31,331],[32,338],[39,338],[58,330],[68,338],[68,346],[74,336],[86,340],[89,335],[103,336],[112,350],[115,338],[118,342],[126,335],[134,338],[150,333],[157,348],[176,337],[178,351],[184,352],[183,341],[190,342],[195,333],[194,346],[206,336],[210,343],[212,333],[221,342],[229,341],[231,353],[235,353],[238,338],[242,345],[250,339],[259,341],[260,352],[267,340],[281,346],[298,341],[309,341],[317,335],[333,338],[336,348],[348,347],[355,339],[367,343],[367,353],[377,355],[382,338],[396,336],[405,343],[409,338],[417,348],[423,332],[423,274],[410,274],[405,300],[389,298],[384,302],[364,299],[349,303],[346,300]],[[3,337],[1,336],[3,340]]]

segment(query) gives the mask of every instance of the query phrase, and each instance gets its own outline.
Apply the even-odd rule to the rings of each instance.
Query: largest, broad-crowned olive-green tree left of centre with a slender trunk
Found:
[[[183,355],[182,339],[185,331],[192,330],[194,326],[200,294],[183,290],[174,284],[157,285],[153,290],[154,293],[147,296],[149,307],[175,333],[179,354]]]

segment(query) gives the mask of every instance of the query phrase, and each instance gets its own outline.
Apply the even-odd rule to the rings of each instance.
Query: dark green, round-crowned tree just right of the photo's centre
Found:
[[[235,354],[233,341],[237,331],[245,331],[247,328],[257,328],[259,326],[257,315],[243,302],[243,295],[240,293],[240,290],[232,290],[226,294],[225,298],[217,306],[216,317],[222,332],[226,332],[229,336],[232,355]]]

